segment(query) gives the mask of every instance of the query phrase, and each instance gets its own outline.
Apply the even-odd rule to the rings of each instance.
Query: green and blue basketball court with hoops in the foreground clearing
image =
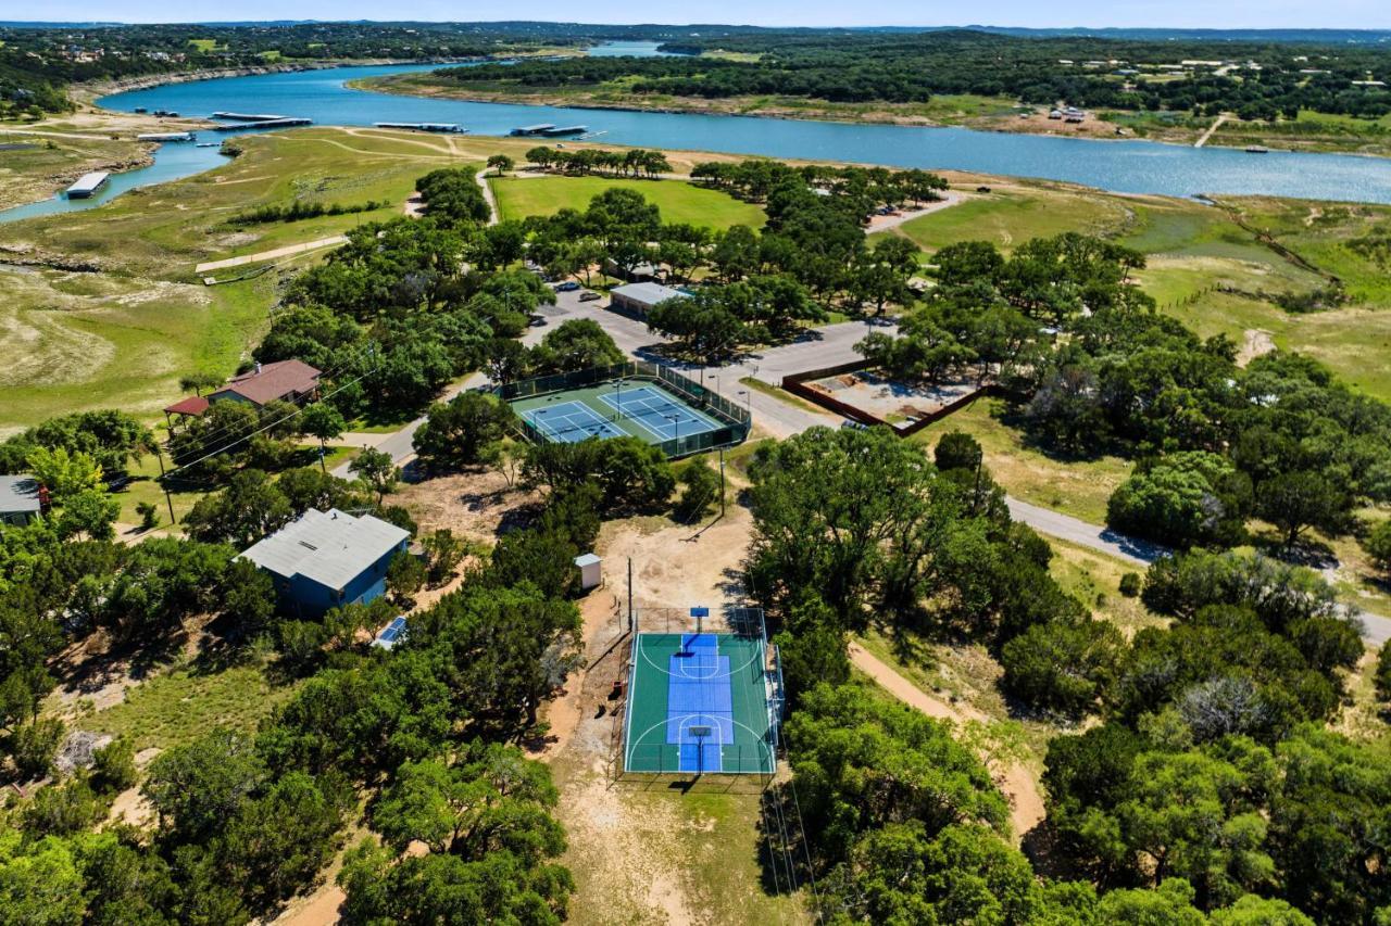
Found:
[[[626,772],[772,774],[773,742],[761,638],[637,634]]]

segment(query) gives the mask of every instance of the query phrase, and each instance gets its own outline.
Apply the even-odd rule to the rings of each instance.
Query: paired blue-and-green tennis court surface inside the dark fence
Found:
[[[625,434],[647,444],[662,444],[723,427],[673,392],[641,380],[615,380],[515,399],[512,409],[545,439],[556,444]]]

